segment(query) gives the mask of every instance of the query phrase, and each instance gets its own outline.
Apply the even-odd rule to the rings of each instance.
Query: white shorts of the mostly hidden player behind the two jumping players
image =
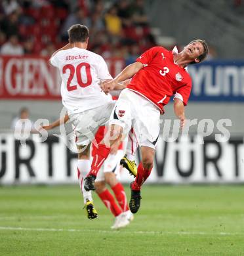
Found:
[[[120,160],[123,158],[123,150],[118,150],[117,154],[112,155],[109,154],[108,158],[102,164],[102,167],[98,171],[98,175],[96,176],[96,181],[104,181],[105,175],[104,173],[115,173],[117,179],[119,179],[119,170],[120,170]]]

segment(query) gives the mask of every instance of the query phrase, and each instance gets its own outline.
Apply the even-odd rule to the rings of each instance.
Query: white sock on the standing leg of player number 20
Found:
[[[89,201],[92,201],[92,194],[91,191],[87,191],[84,188],[84,179],[87,177],[87,174],[91,170],[91,161],[90,160],[78,160],[77,161],[77,169],[79,175],[79,187],[81,188],[81,194],[83,195],[84,203],[87,202],[87,199]]]

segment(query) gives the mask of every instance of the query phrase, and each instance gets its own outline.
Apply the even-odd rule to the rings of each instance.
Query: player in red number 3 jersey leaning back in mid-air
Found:
[[[104,83],[104,91],[108,93],[117,83],[132,77],[131,83],[121,92],[115,104],[108,133],[108,138],[113,138],[110,139],[110,146],[117,143],[122,134],[126,135],[131,127],[138,136],[142,161],[138,165],[136,179],[131,183],[129,206],[132,213],[136,213],[140,207],[140,189],[152,171],[160,130],[159,117],[164,113],[163,107],[174,95],[174,113],[180,119],[182,128],[185,120],[184,106],[188,103],[192,89],[192,79],[186,66],[203,61],[207,53],[207,43],[200,39],[190,42],[180,53],[176,47],[173,51],[153,47],[127,66],[115,79]],[[91,171],[85,180],[87,190],[94,190],[92,181],[104,158],[106,156],[98,152],[96,162],[92,161]]]

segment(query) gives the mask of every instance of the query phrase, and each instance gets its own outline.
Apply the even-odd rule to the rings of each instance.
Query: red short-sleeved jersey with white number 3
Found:
[[[136,61],[144,65],[127,88],[152,101],[161,112],[176,95],[184,105],[187,104],[192,89],[192,79],[185,68],[174,63],[173,51],[163,47],[153,47],[143,53]]]

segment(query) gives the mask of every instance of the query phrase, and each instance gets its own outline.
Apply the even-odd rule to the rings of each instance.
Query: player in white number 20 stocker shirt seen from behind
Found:
[[[83,178],[91,169],[90,145],[99,126],[108,121],[115,102],[100,89],[100,81],[112,79],[102,56],[87,51],[89,30],[75,24],[68,30],[69,43],[52,54],[50,62],[60,70],[62,103],[75,127],[78,150],[77,169],[89,219],[97,217],[91,192],[83,188]],[[123,89],[119,84],[115,89]],[[79,175],[79,173],[78,173]]]

